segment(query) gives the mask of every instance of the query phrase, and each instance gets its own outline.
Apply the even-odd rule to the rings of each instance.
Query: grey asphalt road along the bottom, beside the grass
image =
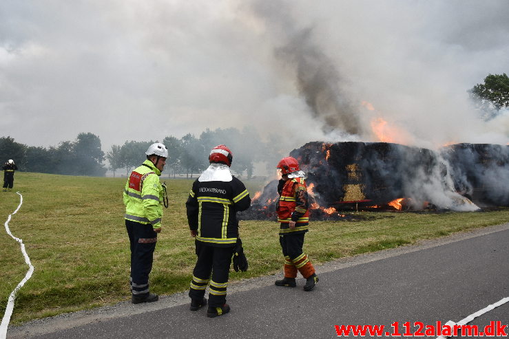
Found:
[[[403,333],[404,322],[457,322],[509,296],[509,223],[341,259],[317,271],[312,292],[302,290],[303,278],[296,288],[273,285],[280,276],[232,283],[231,312],[218,318],[207,318],[206,309],[189,311],[183,293],[36,320],[9,327],[7,338],[334,338],[335,325],[385,325],[392,333],[398,322]],[[509,303],[469,325],[492,320],[507,325]]]

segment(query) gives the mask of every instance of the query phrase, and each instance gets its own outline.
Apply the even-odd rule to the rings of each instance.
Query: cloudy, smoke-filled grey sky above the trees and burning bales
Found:
[[[0,137],[508,144],[509,111],[468,96],[509,73],[508,18],[507,0],[3,0]]]

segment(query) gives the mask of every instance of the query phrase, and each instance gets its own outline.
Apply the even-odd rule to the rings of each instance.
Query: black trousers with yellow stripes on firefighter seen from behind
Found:
[[[233,247],[215,247],[196,241],[196,255],[198,259],[193,270],[189,297],[201,300],[209,285],[209,306],[225,305]]]

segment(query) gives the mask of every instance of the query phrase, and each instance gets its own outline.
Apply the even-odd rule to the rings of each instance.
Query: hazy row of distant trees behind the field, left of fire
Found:
[[[19,171],[51,173],[62,175],[104,176],[111,170],[114,176],[119,171],[126,175],[133,168],[139,166],[145,157],[150,144],[162,142],[169,151],[166,160],[165,173],[176,177],[184,173],[186,177],[201,173],[209,166],[210,150],[218,144],[226,144],[233,153],[231,170],[247,177],[253,175],[253,164],[267,161],[276,163],[280,157],[269,144],[261,140],[255,129],[246,127],[242,131],[229,129],[206,129],[197,138],[187,133],[182,138],[169,135],[163,140],[135,141],[129,140],[124,144],[112,145],[110,151],[103,152],[101,140],[93,133],[79,133],[74,141],[64,141],[59,146],[28,146],[14,141],[14,138],[0,138],[0,159],[4,162],[13,159]],[[105,165],[105,160],[109,166]]]

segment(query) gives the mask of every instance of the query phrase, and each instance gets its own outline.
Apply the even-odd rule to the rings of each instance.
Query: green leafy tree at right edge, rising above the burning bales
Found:
[[[505,73],[488,74],[483,84],[475,85],[469,92],[477,107],[488,113],[488,118],[509,107],[509,78]]]

